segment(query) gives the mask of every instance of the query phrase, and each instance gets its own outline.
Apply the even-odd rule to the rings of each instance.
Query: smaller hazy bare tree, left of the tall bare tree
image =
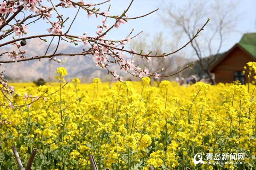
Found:
[[[150,37],[148,34],[144,34],[144,36],[141,35],[136,39],[136,41],[134,41],[134,43],[132,43],[132,49],[135,51],[141,51],[141,49],[148,51],[151,49],[152,53],[156,54],[162,54],[164,51],[169,50],[173,51],[179,45],[181,33],[176,32],[175,39],[177,39],[177,41],[167,40],[167,38],[164,38],[163,32],[156,33],[151,41],[148,37]],[[140,60],[138,56],[136,56],[134,60],[142,67],[152,68],[152,71],[154,72],[161,70],[162,74],[170,75],[174,74],[176,70],[181,70],[184,67],[186,60],[183,56],[185,56],[185,53],[180,51],[168,58],[152,58],[150,59],[152,60],[150,62],[149,60]],[[177,76],[181,77],[181,73],[178,73]],[[159,77],[159,79],[152,80],[155,80],[159,84],[159,82],[166,80],[167,78],[168,77]]]

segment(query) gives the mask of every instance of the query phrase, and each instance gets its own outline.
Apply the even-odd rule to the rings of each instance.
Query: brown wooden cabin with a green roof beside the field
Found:
[[[246,33],[239,43],[224,53],[211,67],[210,72],[215,74],[215,82],[231,83],[239,80],[248,82],[248,77],[242,72],[246,63],[256,62],[256,33]]]

